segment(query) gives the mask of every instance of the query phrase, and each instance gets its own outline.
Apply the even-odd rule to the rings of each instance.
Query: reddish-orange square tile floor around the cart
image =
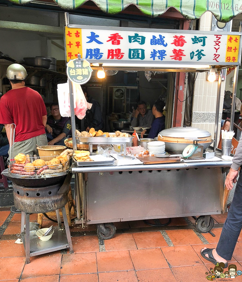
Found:
[[[9,211],[0,211],[0,282],[208,281],[206,273],[214,265],[202,258],[200,250],[216,247],[227,217],[213,216],[215,237],[194,232],[184,218],[172,218],[164,228],[143,221],[117,222],[114,238],[104,242],[98,240],[95,225],[84,229],[73,225],[74,253],[56,251],[31,257],[30,264],[25,264],[24,246],[14,243],[21,217],[15,214],[8,222],[9,215]],[[194,223],[194,218],[187,219]],[[36,222],[37,216],[31,215],[30,220]],[[43,218],[43,226],[50,225],[52,222]],[[242,270],[242,233],[231,263]],[[242,281],[242,276],[236,281]]]

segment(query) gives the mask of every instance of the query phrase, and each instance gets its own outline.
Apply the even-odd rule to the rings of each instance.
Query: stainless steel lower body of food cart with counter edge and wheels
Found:
[[[73,165],[72,172],[83,174],[77,192],[83,195],[84,222],[96,223],[98,236],[108,239],[115,234],[110,222],[129,220],[199,216],[197,230],[210,231],[210,215],[220,214],[224,208],[225,172],[231,163]],[[108,234],[103,232],[105,228]]]

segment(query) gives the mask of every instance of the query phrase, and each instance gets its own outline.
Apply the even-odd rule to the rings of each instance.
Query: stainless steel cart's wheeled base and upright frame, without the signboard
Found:
[[[70,25],[68,14],[65,14],[66,26],[69,28],[87,28],[85,26]],[[103,27],[96,27],[102,30]],[[112,29],[112,28],[110,28]],[[122,28],[113,28],[122,29]],[[126,28],[130,31],[132,29]],[[137,31],[137,29],[135,29]],[[139,29],[138,31],[145,31]],[[155,32],[155,30],[153,30]],[[159,32],[166,32],[159,30]],[[171,31],[167,31],[171,32]],[[173,32],[189,33],[192,31],[175,30]],[[216,34],[196,31],[198,34]],[[236,33],[230,33],[236,34]],[[237,77],[241,58],[241,24],[239,33],[239,55],[235,65],[232,107],[235,106]],[[218,35],[220,36],[220,35]],[[98,68],[98,60],[90,60],[92,68]],[[193,61],[190,65],[175,62],[168,63],[152,61],[144,64],[139,61],[123,61],[110,63],[110,60],[99,60],[105,69],[115,70],[153,70],[153,71],[208,71],[217,69],[218,89],[217,107],[215,117],[214,145],[217,148],[219,104],[221,92],[221,69],[228,68],[230,62],[219,63],[218,60],[200,65]],[[70,86],[72,136],[75,136],[74,98],[72,83]],[[231,130],[234,115],[231,114]],[[76,150],[76,139],[73,138],[73,148]],[[217,154],[217,152],[216,152]],[[132,165],[132,166],[99,166],[77,167],[72,165],[76,184],[76,211],[79,223],[96,223],[98,236],[103,239],[112,238],[115,227],[112,222],[155,219],[182,216],[200,216],[196,227],[201,232],[208,232],[213,227],[211,214],[220,214],[224,211],[224,180],[225,172],[229,169],[231,161],[193,162],[160,164],[160,165]],[[225,199],[226,200],[226,199]]]

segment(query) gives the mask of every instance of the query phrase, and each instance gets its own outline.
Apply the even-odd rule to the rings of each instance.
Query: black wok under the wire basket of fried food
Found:
[[[29,175],[16,175],[9,173],[8,169],[3,170],[2,174],[5,175],[8,180],[19,186],[46,187],[63,182],[66,178],[67,172],[58,173],[57,175],[45,175],[45,178],[44,176],[41,178],[31,178]]]

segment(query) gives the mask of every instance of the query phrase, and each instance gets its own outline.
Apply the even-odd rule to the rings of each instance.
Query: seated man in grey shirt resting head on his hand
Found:
[[[133,127],[150,127],[154,118],[152,111],[147,110],[145,101],[139,101],[131,125]]]

